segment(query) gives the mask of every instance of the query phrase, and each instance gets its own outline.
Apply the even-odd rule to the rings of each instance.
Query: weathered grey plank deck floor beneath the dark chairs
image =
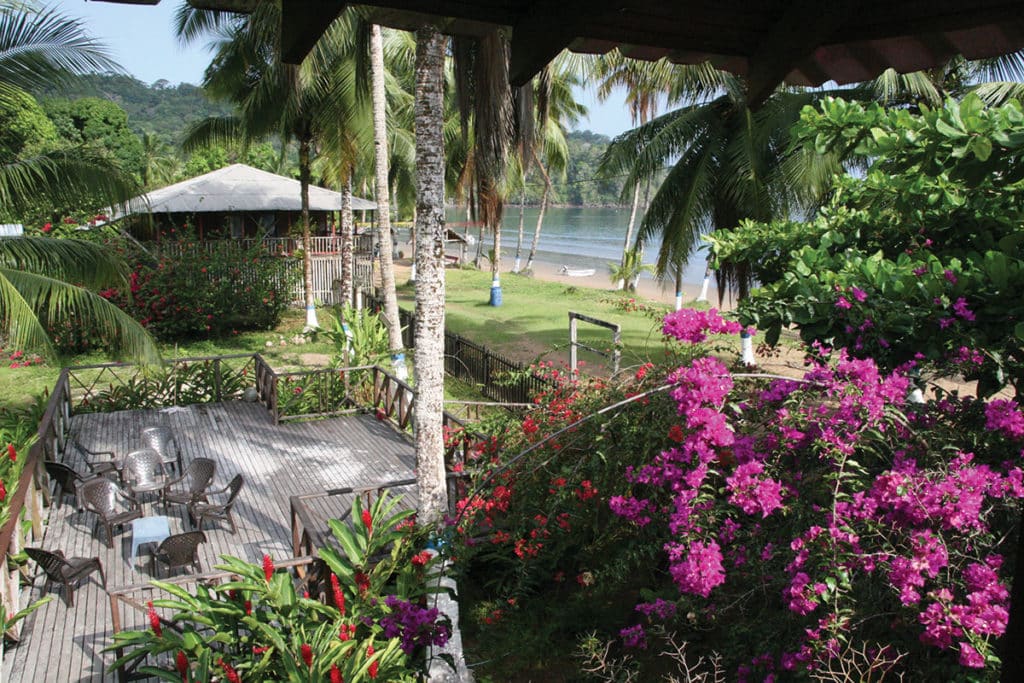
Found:
[[[162,411],[124,411],[75,416],[73,431],[84,445],[119,455],[141,447],[144,427],[166,425],[177,434],[185,467],[193,458],[217,462],[216,487],[241,472],[246,483],[234,507],[239,529],[206,524],[209,542],[200,548],[203,569],[212,570],[220,555],[229,554],[258,562],[264,553],[274,558],[292,556],[289,498],[325,488],[364,486],[413,476],[412,444],[373,416],[347,416],[314,422],[274,425],[258,403],[216,403],[170,408]],[[77,457],[77,454],[75,454]],[[80,462],[68,464],[79,471]],[[412,487],[410,487],[412,488]],[[401,490],[407,502],[415,489]],[[93,536],[95,516],[77,512],[71,499],[52,509],[43,546],[69,556],[94,556],[102,560],[108,588],[144,584],[151,578],[148,551],[139,551],[136,569],[129,565],[130,526],[115,536],[113,548]],[[318,502],[315,510],[328,516],[348,512],[350,497]],[[159,504],[146,504],[147,514],[165,514]],[[186,530],[184,509],[171,506],[171,532]],[[100,536],[105,535],[100,530]],[[44,580],[31,589],[32,600],[41,597]],[[28,589],[27,589],[28,590]],[[75,606],[65,605],[63,589],[55,599],[32,614],[22,642],[4,657],[5,681],[113,681],[105,673],[113,653],[102,652],[111,643],[111,607],[99,585],[98,573],[75,591]],[[144,615],[132,610],[124,629],[142,629]]]

